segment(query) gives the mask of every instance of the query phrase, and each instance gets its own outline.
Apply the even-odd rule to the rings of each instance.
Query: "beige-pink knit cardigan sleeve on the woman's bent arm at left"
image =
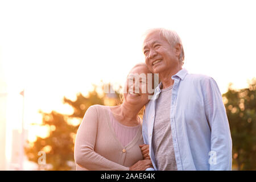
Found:
[[[94,151],[97,137],[97,110],[90,106],[77,130],[74,157],[82,168],[93,171],[129,171],[129,167],[112,162]]]

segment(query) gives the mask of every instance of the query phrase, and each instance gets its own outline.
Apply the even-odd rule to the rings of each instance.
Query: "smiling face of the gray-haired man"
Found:
[[[177,55],[159,31],[146,36],[143,43],[145,63],[152,73],[163,73],[179,64]]]

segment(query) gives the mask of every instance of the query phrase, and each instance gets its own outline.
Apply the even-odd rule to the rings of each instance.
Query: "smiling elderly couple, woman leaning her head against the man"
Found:
[[[231,170],[229,123],[213,78],[182,68],[175,31],[147,31],[143,53],[145,63],[127,76],[122,104],[86,111],[75,142],[77,170]]]

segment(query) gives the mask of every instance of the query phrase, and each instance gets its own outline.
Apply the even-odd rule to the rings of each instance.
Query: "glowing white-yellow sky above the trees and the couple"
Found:
[[[41,122],[39,109],[72,113],[64,96],[74,100],[101,80],[122,84],[144,61],[148,28],[175,30],[184,68],[212,76],[221,93],[229,82],[246,87],[256,77],[255,7],[255,1],[0,1],[7,135],[20,128],[23,89],[24,127],[33,140],[45,133],[30,126]]]

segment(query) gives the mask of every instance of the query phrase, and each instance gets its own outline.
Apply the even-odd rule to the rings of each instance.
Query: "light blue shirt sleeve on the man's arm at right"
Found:
[[[232,169],[232,139],[226,110],[218,85],[213,78],[204,81],[204,104],[210,130],[210,170]]]

